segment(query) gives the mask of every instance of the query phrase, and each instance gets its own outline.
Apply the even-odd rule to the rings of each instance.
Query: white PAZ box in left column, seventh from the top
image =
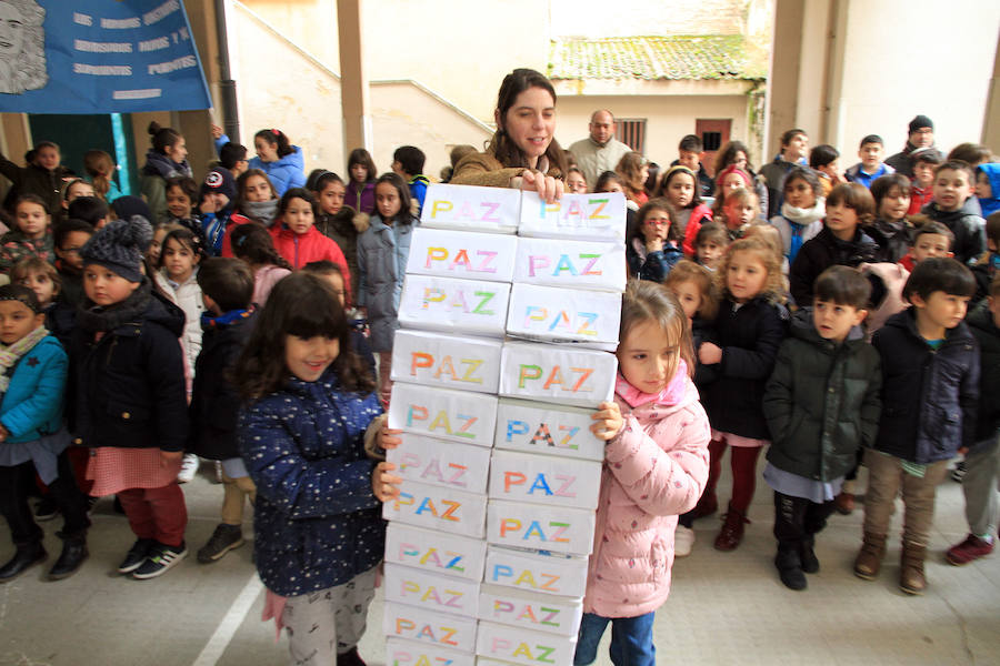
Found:
[[[403,481],[399,487],[399,496],[382,505],[382,517],[387,521],[482,537],[487,504],[484,495],[412,481]]]

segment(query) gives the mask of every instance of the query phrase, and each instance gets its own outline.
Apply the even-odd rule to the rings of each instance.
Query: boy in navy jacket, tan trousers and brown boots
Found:
[[[912,307],[872,337],[882,357],[882,417],[864,453],[869,470],[864,539],[854,574],[878,576],[886,537],[902,491],[904,517],[899,587],[922,594],[934,493],[948,461],[976,438],[979,344],[962,321],[976,280],[953,259],[927,259],[903,286]]]

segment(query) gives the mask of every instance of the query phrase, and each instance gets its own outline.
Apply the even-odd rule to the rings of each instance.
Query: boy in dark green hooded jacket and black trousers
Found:
[[[816,534],[833,497],[879,428],[882,373],[861,322],[871,287],[858,272],[831,266],[813,285],[812,309],[796,313],[763,397],[771,431],[764,481],[774,490],[774,566],[791,589],[819,571]],[[792,427],[792,424],[796,424]]]

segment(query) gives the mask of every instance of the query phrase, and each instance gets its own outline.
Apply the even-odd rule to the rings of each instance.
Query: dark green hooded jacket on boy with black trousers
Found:
[[[837,344],[820,336],[810,311],[800,310],[764,391],[768,460],[816,481],[844,476],[858,448],[874,443],[881,389],[879,353],[860,327]]]

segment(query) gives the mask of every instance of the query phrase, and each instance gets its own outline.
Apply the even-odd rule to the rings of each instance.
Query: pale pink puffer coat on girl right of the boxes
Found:
[[[676,404],[616,396],[624,426],[604,448],[584,613],[637,617],[670,594],[677,516],[704,491],[711,437],[694,384],[683,372],[673,382]]]

